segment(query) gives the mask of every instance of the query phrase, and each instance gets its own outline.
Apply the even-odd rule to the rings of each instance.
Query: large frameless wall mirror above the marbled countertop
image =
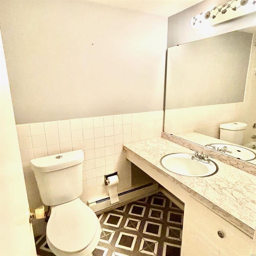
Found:
[[[255,40],[252,27],[168,48],[164,132],[256,164]]]

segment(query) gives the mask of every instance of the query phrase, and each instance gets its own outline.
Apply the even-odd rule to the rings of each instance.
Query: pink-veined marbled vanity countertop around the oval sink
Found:
[[[222,216],[231,216],[234,225],[253,235],[256,227],[256,176],[218,160],[214,160],[218,172],[209,177],[187,177],[168,172],[160,164],[162,156],[178,152],[191,154],[192,151],[163,138],[125,144],[124,149],[160,174],[174,178],[188,192],[196,192],[212,204],[212,209]]]

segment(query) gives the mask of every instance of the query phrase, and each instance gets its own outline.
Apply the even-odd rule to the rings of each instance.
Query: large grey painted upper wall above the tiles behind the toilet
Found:
[[[162,110],[167,18],[79,0],[0,10],[16,124]]]

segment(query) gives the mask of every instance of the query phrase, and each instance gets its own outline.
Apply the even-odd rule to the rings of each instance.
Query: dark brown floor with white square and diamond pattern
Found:
[[[98,219],[102,233],[94,256],[180,256],[183,211],[160,192]],[[45,235],[35,241],[39,256],[54,256]]]

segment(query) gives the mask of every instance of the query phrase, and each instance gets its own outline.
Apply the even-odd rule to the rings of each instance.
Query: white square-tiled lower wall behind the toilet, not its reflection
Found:
[[[131,166],[123,143],[160,137],[163,111],[99,116],[17,125],[20,154],[31,208],[42,204],[29,161],[71,150],[84,151],[81,199],[107,196],[104,175],[118,172],[118,190],[130,186]]]

